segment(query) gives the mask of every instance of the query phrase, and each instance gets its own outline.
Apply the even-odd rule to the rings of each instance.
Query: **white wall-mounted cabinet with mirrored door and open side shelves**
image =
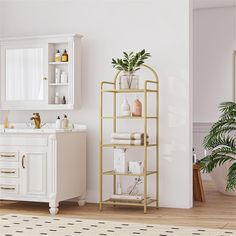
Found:
[[[81,38],[82,36],[78,34],[67,34],[0,39],[0,110],[79,109],[81,104]],[[12,64],[11,61],[8,63],[8,60],[10,60],[9,52],[11,53],[10,55],[14,55],[11,50],[15,50],[14,53],[18,53],[17,51],[27,51],[27,49],[33,49],[33,51],[35,49],[34,56],[40,63],[30,67],[28,61],[23,62],[25,63],[24,66],[27,65],[31,68],[29,70],[30,73],[27,71],[27,75],[30,76],[28,76],[27,80],[23,78],[24,76],[18,79],[15,76],[18,73],[15,73],[10,78],[11,80],[13,79],[14,83],[12,81],[9,83],[9,73],[7,72],[9,71],[9,63]],[[40,58],[37,57],[39,53],[36,51],[38,49]],[[63,54],[64,50],[67,51],[67,62],[54,61],[57,50],[61,54]],[[14,68],[18,68],[19,64],[17,63],[19,61],[14,61],[16,61]],[[60,74],[65,72],[67,83],[55,83],[56,70],[59,70]],[[34,82],[29,82],[30,80]],[[9,84],[17,85],[9,87]],[[19,92],[20,88],[21,91]],[[11,96],[8,95],[9,89]],[[61,103],[62,98],[65,97],[66,104],[55,104],[56,94],[59,94]]]

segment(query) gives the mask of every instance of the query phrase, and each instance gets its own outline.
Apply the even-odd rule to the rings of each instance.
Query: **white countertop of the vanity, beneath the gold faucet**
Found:
[[[86,125],[73,124],[69,129],[56,129],[55,123],[42,124],[40,129],[35,129],[30,123],[16,123],[10,124],[13,128],[5,129],[3,124],[0,124],[1,133],[27,133],[27,134],[51,134],[51,133],[66,133],[66,132],[85,132],[87,130]]]

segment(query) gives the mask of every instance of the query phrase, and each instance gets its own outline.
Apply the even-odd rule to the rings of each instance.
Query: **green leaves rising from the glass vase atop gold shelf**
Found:
[[[123,55],[123,59],[112,58],[111,63],[115,69],[129,73],[134,73],[135,71],[139,70],[140,66],[144,64],[144,61],[151,57],[150,53],[146,52],[145,49],[137,53],[123,52]]]

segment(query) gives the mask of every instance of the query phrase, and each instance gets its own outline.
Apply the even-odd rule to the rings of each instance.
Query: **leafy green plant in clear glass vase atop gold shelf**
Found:
[[[112,58],[112,66],[123,72],[119,78],[119,88],[137,89],[139,87],[139,80],[135,72],[140,69],[140,66],[144,64],[144,61],[151,55],[146,52],[145,49],[137,53],[123,52],[123,55],[123,59]]]

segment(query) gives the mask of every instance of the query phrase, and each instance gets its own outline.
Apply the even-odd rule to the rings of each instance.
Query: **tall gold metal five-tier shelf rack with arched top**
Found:
[[[103,204],[109,205],[125,205],[125,206],[142,206],[144,208],[144,213],[147,212],[147,206],[155,203],[155,206],[158,208],[158,143],[159,143],[159,136],[158,136],[158,119],[159,119],[159,106],[158,106],[158,94],[159,94],[159,82],[158,76],[154,69],[150,66],[142,65],[143,68],[148,69],[152,72],[154,80],[145,80],[144,81],[144,88],[143,89],[118,89],[117,88],[117,79],[119,78],[120,72],[117,72],[114,78],[114,82],[101,82],[101,90],[100,90],[100,202],[99,208],[102,210]],[[104,88],[110,86],[111,88]],[[113,95],[113,116],[103,116],[103,95],[104,93],[111,93]],[[117,116],[116,114],[116,105],[117,105],[117,94],[121,93],[142,93],[144,95],[144,104],[143,104],[143,116],[142,117],[121,117]],[[155,104],[155,115],[148,116],[147,114],[147,100],[148,100],[148,93],[155,93],[156,94],[156,104]],[[154,105],[154,104],[153,104]],[[112,120],[113,121],[113,132],[117,131],[117,121],[118,120],[142,120],[144,125],[144,145],[121,145],[121,144],[107,144],[103,143],[103,122],[104,120]],[[148,120],[154,120],[156,126],[156,137],[155,143],[148,144],[147,143],[147,130],[148,130]],[[131,173],[116,173],[113,170],[104,171],[103,170],[103,149],[104,148],[143,148],[144,149],[144,170],[142,174],[131,174]],[[148,156],[148,148],[155,148],[155,170],[150,171],[147,170],[147,156]],[[151,199],[147,196],[147,177],[150,175],[156,176],[156,197],[155,199]],[[121,201],[114,201],[112,199],[103,200],[103,176],[113,176],[113,194],[116,194],[116,176],[140,176],[143,178],[143,201],[141,202],[121,202]]]

